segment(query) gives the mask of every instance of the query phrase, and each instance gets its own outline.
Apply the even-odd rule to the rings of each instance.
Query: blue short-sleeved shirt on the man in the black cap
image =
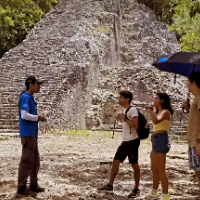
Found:
[[[19,99],[19,127],[21,137],[36,137],[38,134],[38,121],[28,121],[21,118],[21,110],[26,110],[32,115],[37,115],[37,105],[33,95],[27,91]]]

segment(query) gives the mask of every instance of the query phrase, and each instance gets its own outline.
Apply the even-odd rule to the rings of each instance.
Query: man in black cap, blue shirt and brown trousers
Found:
[[[38,122],[46,121],[43,115],[38,115],[37,104],[33,98],[38,93],[43,82],[35,76],[29,76],[26,81],[26,91],[19,98],[19,126],[22,144],[22,156],[19,164],[18,186],[16,197],[36,196],[44,192],[39,187],[37,174],[40,167],[38,151]],[[30,176],[30,187],[27,188],[27,178]]]

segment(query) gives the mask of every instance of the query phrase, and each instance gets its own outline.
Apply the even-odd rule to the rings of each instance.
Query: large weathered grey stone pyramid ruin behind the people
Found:
[[[168,91],[176,109],[171,132],[185,133],[185,80],[174,85],[172,74],[151,66],[179,49],[175,34],[136,0],[60,0],[0,60],[1,132],[18,132],[18,97],[34,74],[45,80],[36,100],[52,129],[111,130],[118,92],[129,89],[139,108]]]

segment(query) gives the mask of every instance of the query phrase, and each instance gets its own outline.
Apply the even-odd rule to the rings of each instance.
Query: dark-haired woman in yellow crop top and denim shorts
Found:
[[[161,181],[163,192],[162,200],[169,200],[168,177],[166,173],[166,154],[169,152],[171,145],[167,132],[169,130],[171,116],[173,114],[169,96],[166,93],[157,93],[154,107],[156,112],[154,112],[153,107],[145,106],[153,123],[153,134],[151,136],[151,169],[153,172],[153,189],[149,194],[148,199],[157,198],[157,190],[159,182]]]

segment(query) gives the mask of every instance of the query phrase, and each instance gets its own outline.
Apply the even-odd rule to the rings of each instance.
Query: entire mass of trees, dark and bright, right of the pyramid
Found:
[[[138,0],[175,31],[183,51],[200,51],[200,0]]]

